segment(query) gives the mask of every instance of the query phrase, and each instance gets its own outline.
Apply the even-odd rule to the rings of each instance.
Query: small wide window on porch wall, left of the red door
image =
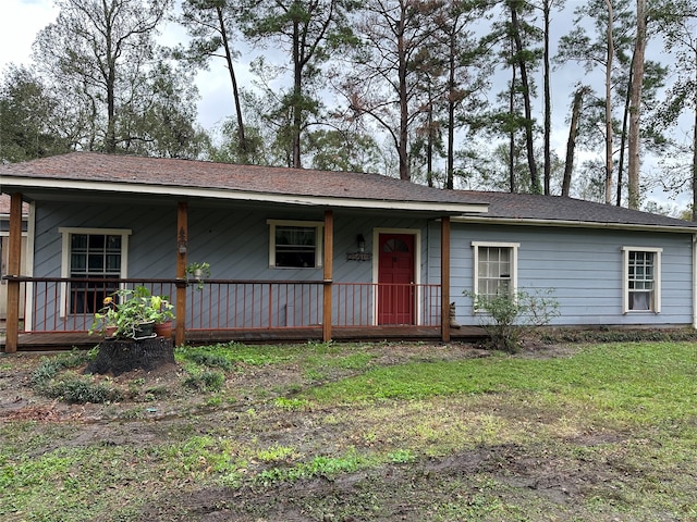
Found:
[[[269,220],[269,265],[288,269],[321,266],[322,222]]]

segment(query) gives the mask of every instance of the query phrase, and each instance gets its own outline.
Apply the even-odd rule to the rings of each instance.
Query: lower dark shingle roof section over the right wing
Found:
[[[460,192],[468,201],[489,203],[489,211],[484,214],[486,219],[695,227],[697,232],[697,223],[689,221],[582,199],[476,190]]]

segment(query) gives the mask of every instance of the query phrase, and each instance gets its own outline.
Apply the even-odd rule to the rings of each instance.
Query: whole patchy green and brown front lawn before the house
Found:
[[[288,502],[308,520],[391,521],[396,501],[425,521],[697,520],[695,344],[389,366],[379,350],[182,348],[179,382],[127,383],[143,405],[102,407],[113,423],[0,422],[0,517],[198,520],[166,499],[224,486],[235,502],[207,501],[237,510],[230,520],[274,520]],[[82,362],[46,358],[30,381],[45,389]],[[293,372],[292,393],[246,397],[261,370],[270,383]],[[148,408],[180,413],[156,422]],[[356,477],[343,496],[307,488],[341,476]],[[276,490],[282,499],[259,504]]]

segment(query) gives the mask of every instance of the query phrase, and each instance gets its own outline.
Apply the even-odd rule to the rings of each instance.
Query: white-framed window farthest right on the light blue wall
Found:
[[[622,247],[623,313],[661,311],[660,248]]]

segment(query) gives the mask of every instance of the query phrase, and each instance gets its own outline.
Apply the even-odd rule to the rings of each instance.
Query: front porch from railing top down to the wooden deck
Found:
[[[297,343],[322,340],[325,310],[331,313],[333,340],[442,340],[443,310],[440,285],[327,283],[323,281],[206,281],[85,279],[11,277],[23,297],[17,348],[42,350],[91,347],[98,336],[87,334],[94,312],[118,288],[145,286],[154,295],[185,299],[183,324],[187,344]],[[328,293],[329,289],[329,293]],[[329,295],[330,308],[325,300]],[[404,313],[401,322],[381,314]],[[453,339],[484,337],[478,327],[452,328]],[[0,337],[4,351],[5,339]]]

